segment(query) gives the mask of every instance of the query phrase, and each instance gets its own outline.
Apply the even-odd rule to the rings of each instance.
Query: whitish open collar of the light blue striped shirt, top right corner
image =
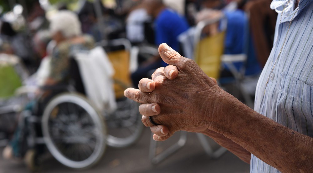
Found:
[[[281,14],[281,22],[291,21],[292,17],[295,18],[307,5],[313,0],[300,0],[299,5],[295,8],[296,0],[273,0],[271,3],[271,9]]]

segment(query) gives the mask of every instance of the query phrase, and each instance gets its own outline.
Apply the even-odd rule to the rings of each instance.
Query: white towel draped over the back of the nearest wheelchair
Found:
[[[80,69],[87,97],[100,110],[113,112],[117,108],[112,77],[113,66],[103,48],[78,52],[75,59]]]

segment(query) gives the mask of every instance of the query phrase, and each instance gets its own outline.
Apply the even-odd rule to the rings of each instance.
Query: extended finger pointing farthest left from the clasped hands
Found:
[[[124,91],[124,95],[138,103],[151,103],[152,94],[141,92],[139,89],[127,88]]]

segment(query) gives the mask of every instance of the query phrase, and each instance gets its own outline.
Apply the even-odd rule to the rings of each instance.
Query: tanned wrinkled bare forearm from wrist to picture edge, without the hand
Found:
[[[313,139],[258,114],[230,94],[207,126],[282,172],[313,170]]]

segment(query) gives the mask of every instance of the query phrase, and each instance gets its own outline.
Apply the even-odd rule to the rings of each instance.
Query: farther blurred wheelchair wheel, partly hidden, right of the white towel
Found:
[[[118,81],[116,86],[120,88],[117,103],[117,110],[105,116],[108,125],[107,144],[111,147],[122,148],[134,144],[141,136],[143,124],[139,113],[139,104],[124,96],[124,90],[128,87]],[[122,96],[121,96],[122,95]]]

